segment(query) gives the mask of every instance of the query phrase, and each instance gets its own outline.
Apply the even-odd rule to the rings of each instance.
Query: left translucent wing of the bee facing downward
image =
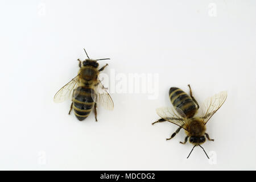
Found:
[[[178,107],[175,107],[175,109],[174,107],[160,107],[156,109],[156,113],[166,121],[174,123],[175,125],[182,127],[184,130],[187,130],[185,120],[179,115],[177,110],[179,110],[179,113],[182,112]]]

